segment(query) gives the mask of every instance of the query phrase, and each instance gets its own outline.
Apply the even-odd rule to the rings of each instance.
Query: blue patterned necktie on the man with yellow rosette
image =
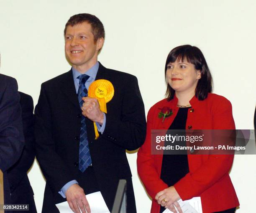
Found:
[[[79,79],[79,89],[77,92],[77,96],[78,96],[80,107],[82,107],[84,103],[84,101],[82,100],[82,97],[86,97],[88,94],[88,91],[85,87],[85,82],[89,79],[89,77],[90,76],[87,76],[85,74],[77,77],[77,79]],[[86,168],[91,164],[92,164],[92,159],[91,159],[89,145],[88,145],[85,117],[82,115],[80,142],[79,142],[79,170],[81,172],[84,172]]]

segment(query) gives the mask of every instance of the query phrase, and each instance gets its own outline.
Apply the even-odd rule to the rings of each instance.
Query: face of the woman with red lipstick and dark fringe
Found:
[[[187,61],[175,61],[167,64],[166,79],[168,84],[178,92],[191,92],[197,87],[201,72],[194,64]]]

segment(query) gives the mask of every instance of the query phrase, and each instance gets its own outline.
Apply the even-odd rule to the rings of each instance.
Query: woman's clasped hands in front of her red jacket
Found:
[[[177,193],[174,186],[166,188],[160,191],[159,193],[157,193],[155,199],[157,200],[157,203],[160,204],[161,206],[168,208],[174,213],[177,213],[177,211],[174,208],[174,205],[175,205],[176,208],[179,210],[179,213],[182,213],[179,203],[177,202],[177,200],[180,199],[180,196]]]

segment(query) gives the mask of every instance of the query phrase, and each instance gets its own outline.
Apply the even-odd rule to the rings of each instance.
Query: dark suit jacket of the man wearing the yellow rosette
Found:
[[[107,69],[100,64],[97,79],[110,81],[115,89],[108,102],[105,131],[95,140],[93,122],[86,118],[87,134],[97,183],[111,210],[118,180],[131,180],[125,150],[136,150],[145,139],[144,105],[135,76]],[[79,178],[79,136],[81,109],[75,91],[72,70],[46,81],[35,109],[36,157],[46,177],[43,212],[49,203],[64,202],[58,191]],[[83,183],[79,183],[83,188]],[[128,193],[133,195],[132,184]],[[86,192],[85,192],[86,193]],[[134,206],[130,212],[136,212]]]

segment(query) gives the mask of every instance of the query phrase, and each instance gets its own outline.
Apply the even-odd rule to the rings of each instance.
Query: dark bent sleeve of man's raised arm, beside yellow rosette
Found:
[[[125,91],[121,118],[106,114],[106,126],[102,137],[111,140],[126,150],[136,150],[144,143],[146,117],[138,80],[135,76],[125,79]]]

